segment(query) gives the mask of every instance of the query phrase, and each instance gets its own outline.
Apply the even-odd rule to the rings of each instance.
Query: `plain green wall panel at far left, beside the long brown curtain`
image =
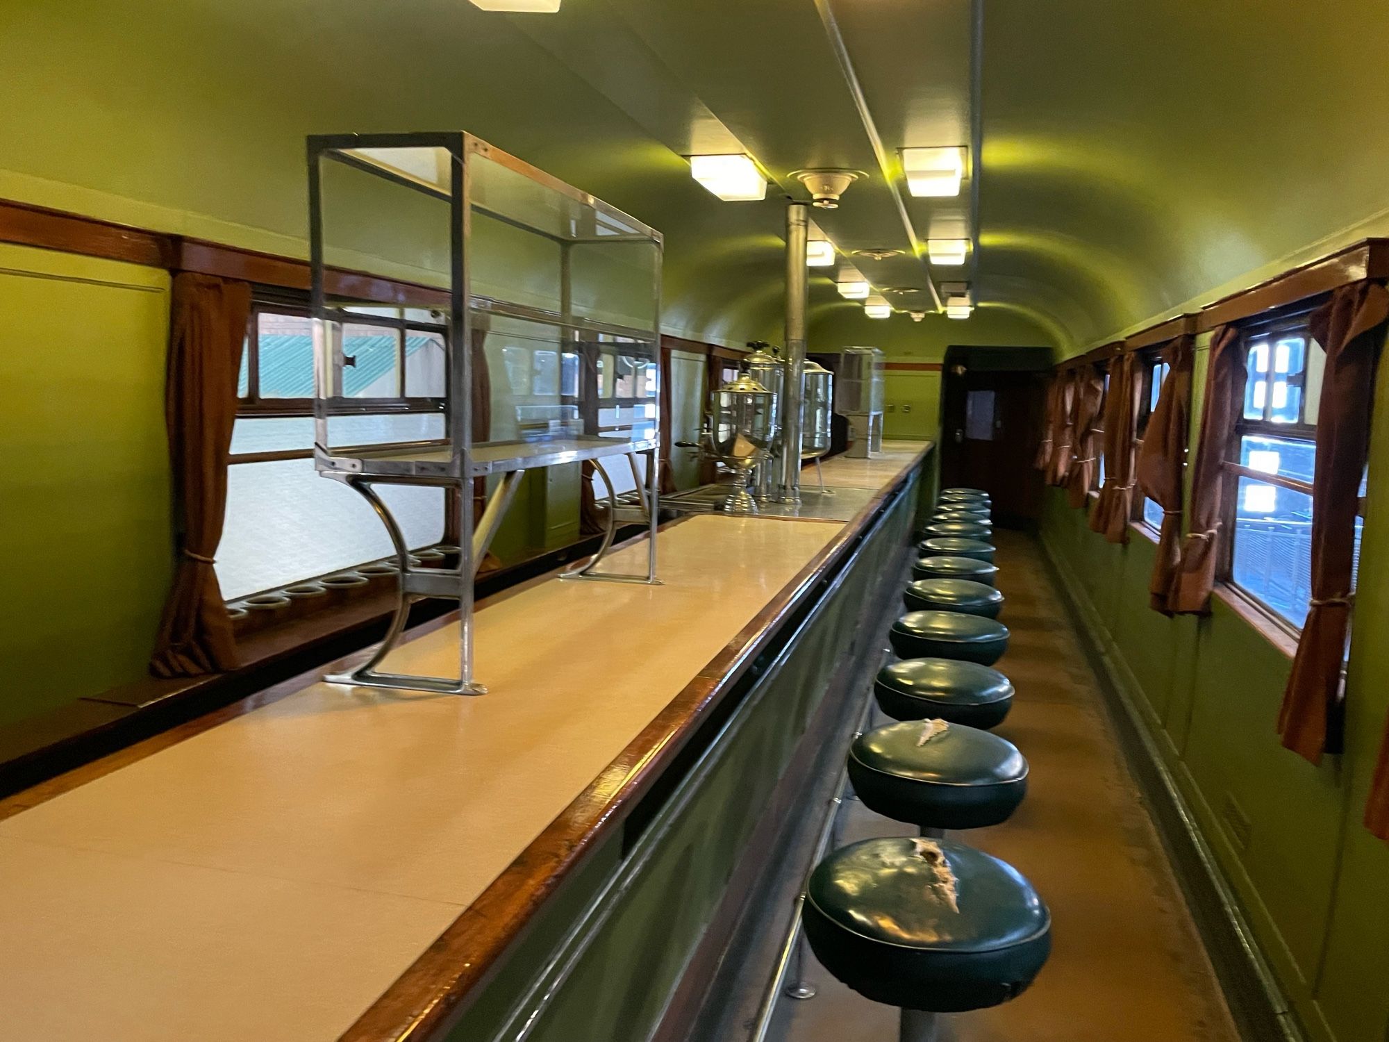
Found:
[[[172,571],[165,272],[0,245],[0,724],[144,672]]]

